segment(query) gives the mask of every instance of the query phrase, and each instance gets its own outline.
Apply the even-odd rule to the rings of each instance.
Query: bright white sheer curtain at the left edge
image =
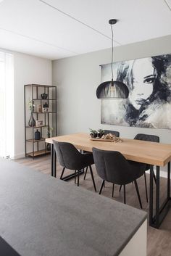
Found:
[[[14,59],[0,51],[0,157],[14,157]]]

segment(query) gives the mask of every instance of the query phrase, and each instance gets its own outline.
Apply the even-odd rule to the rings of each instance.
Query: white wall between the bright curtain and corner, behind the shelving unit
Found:
[[[14,54],[14,157],[25,155],[24,85],[51,85],[51,60]]]

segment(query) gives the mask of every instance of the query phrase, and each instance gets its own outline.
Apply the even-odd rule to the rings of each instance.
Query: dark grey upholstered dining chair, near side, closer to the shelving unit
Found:
[[[75,170],[75,183],[76,183],[76,173],[78,171],[78,186],[79,186],[79,178],[80,178],[80,170],[83,168],[89,167],[91,171],[91,178],[93,181],[93,187],[96,191],[96,184],[93,178],[93,170],[91,168],[91,165],[93,165],[93,154],[81,154],[78,152],[78,149],[75,148],[74,145],[67,143],[67,142],[58,142],[54,141],[54,149],[57,154],[57,159],[59,161],[59,164],[63,167],[62,174],[60,176],[60,179],[62,179],[62,176],[64,174],[65,168],[70,170]]]

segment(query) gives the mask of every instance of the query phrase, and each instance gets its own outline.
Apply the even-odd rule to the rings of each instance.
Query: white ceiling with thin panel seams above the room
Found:
[[[171,34],[171,0],[0,0],[0,48],[60,59]]]

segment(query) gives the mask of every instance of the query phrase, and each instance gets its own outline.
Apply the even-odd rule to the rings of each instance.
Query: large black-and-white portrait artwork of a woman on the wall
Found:
[[[128,86],[128,99],[101,99],[101,123],[171,128],[171,54],[113,63],[114,80]],[[101,82],[111,80],[101,65]]]

